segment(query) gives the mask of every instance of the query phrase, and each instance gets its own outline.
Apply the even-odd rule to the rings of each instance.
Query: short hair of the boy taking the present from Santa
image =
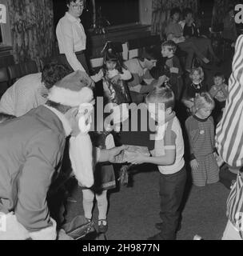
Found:
[[[149,101],[149,99],[155,99],[158,103],[164,103],[165,110],[169,109],[169,107],[173,110],[175,106],[175,96],[169,86],[154,87],[146,97],[146,100]]]

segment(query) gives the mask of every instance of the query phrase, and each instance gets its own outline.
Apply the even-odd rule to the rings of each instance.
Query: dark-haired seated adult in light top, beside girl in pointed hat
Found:
[[[160,58],[160,54],[152,47],[144,49],[139,58],[124,62],[124,66],[132,74],[128,86],[133,102],[142,102],[144,94],[148,94],[157,85],[157,80],[149,73],[149,70],[156,66],[157,58]]]

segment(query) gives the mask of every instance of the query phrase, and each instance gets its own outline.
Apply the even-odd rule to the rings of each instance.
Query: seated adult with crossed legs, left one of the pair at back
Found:
[[[206,64],[209,63],[209,59],[205,58],[205,55],[202,54],[201,50],[194,44],[193,41],[186,39],[183,36],[183,30],[179,24],[180,15],[181,10],[179,8],[173,8],[170,11],[171,19],[168,26],[165,28],[165,34],[167,40],[173,40],[173,42],[177,43],[181,50],[187,53],[187,57],[185,58],[185,70],[190,72],[194,54],[196,54],[197,57]]]

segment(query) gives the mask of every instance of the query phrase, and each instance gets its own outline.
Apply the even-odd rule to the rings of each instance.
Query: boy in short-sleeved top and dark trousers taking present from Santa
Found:
[[[141,153],[133,155],[128,162],[133,164],[152,163],[160,171],[161,223],[155,224],[160,233],[149,240],[176,239],[180,206],[185,190],[186,171],[184,141],[181,125],[173,107],[173,91],[168,87],[157,87],[146,97],[149,114],[157,122],[157,133],[151,156]],[[161,118],[164,117],[164,118]]]

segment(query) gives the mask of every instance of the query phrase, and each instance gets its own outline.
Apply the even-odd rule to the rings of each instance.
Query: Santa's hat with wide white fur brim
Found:
[[[93,99],[93,80],[81,70],[68,74],[49,91],[47,98],[64,106],[80,106]]]

